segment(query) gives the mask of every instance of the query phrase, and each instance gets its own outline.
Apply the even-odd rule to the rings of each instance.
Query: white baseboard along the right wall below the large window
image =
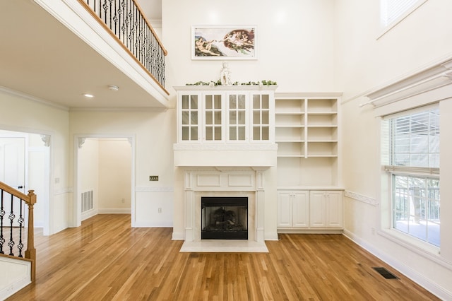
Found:
[[[433,283],[429,279],[425,278],[424,276],[422,276],[422,274],[412,270],[410,266],[400,263],[400,261],[394,259],[392,256],[389,256],[388,254],[381,253],[379,249],[375,249],[373,246],[371,246],[361,238],[357,237],[352,232],[344,230],[343,235],[345,235],[345,237],[347,237],[348,239],[352,240],[352,242],[355,242],[355,244],[358,244],[359,247],[366,249],[367,252],[370,252],[374,256],[383,260],[384,262],[386,262],[386,264],[392,266],[400,273],[403,273],[403,275],[407,276],[415,283],[421,285],[430,293],[436,295],[436,297],[441,298],[441,300],[452,300],[452,292],[447,288],[443,288],[439,285],[436,285],[436,283]]]

